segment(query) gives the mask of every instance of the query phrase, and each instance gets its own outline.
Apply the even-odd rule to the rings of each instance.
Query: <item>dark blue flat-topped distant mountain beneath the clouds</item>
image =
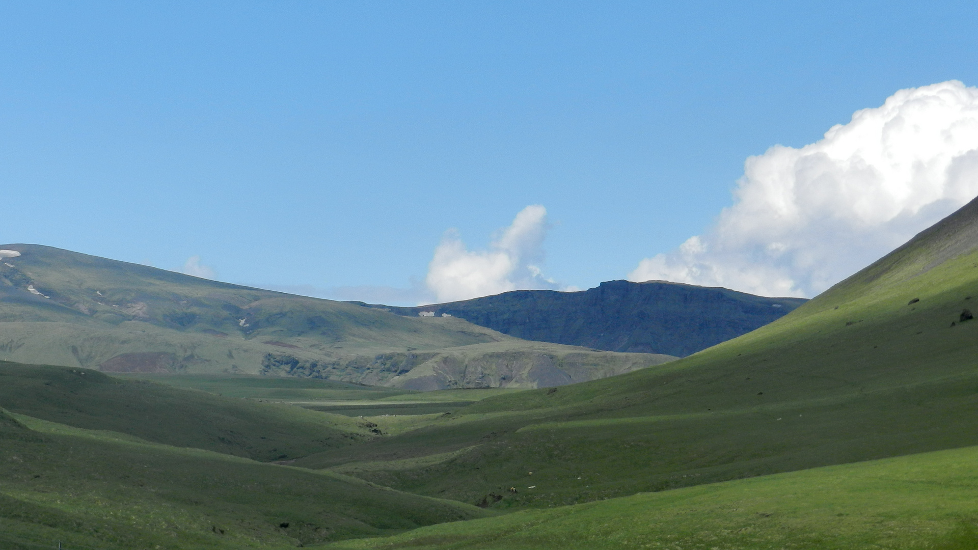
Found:
[[[418,307],[351,303],[398,315],[462,317],[525,340],[683,357],[763,327],[806,301],[665,281],[607,281],[574,293],[513,291]]]

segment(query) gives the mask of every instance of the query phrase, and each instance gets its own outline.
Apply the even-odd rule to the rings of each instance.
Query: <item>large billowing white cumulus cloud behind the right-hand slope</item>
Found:
[[[715,225],[629,279],[811,297],[976,194],[978,88],[900,90],[816,143],[747,159]]]

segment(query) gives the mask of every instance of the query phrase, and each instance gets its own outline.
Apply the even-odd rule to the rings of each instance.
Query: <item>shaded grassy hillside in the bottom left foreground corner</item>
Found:
[[[484,516],[328,473],[0,412],[0,547],[271,549]]]

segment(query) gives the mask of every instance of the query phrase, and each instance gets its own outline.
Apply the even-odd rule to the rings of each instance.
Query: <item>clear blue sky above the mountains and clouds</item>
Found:
[[[0,241],[411,302],[383,289],[423,287],[446,230],[484,250],[542,205],[534,265],[588,288],[703,234],[749,156],[974,86],[975,28],[965,2],[0,2]]]

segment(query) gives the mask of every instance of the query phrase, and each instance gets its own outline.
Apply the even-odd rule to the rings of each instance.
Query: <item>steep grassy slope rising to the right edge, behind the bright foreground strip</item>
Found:
[[[509,508],[978,444],[978,321],[965,312],[978,304],[976,220],[972,203],[771,325],[680,361],[484,399],[296,464],[369,465],[357,475]],[[443,459],[404,467],[428,455]]]

